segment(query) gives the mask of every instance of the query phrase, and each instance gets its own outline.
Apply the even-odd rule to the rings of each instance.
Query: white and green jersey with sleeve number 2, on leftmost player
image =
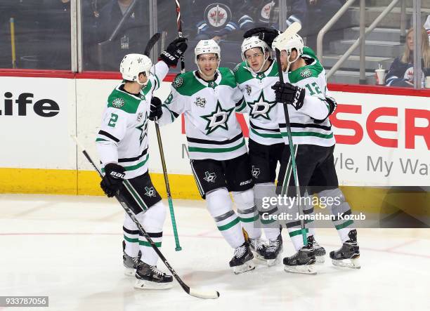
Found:
[[[110,93],[103,112],[102,124],[96,145],[102,172],[108,163],[118,163],[125,168],[125,178],[135,178],[148,171],[148,116],[152,92],[169,72],[160,61],[151,68],[148,84],[138,95],[122,89],[125,82]]]

